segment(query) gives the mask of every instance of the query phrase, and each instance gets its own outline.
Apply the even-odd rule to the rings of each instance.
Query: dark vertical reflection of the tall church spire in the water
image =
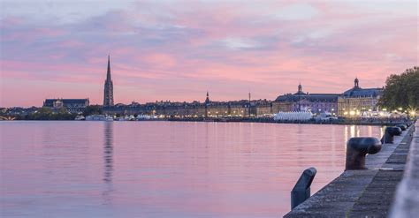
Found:
[[[102,195],[104,204],[110,204],[113,172],[113,122],[104,123],[103,133],[103,182],[105,189]]]

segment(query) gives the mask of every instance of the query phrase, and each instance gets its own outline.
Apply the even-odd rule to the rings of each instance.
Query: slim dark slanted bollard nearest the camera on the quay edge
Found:
[[[309,168],[302,172],[301,177],[291,191],[291,209],[300,205],[310,197],[310,185],[316,176],[316,168]]]

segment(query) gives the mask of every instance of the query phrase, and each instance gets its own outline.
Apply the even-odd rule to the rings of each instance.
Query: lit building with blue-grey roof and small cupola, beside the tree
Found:
[[[377,101],[383,88],[362,88],[359,79],[354,79],[354,87],[341,94],[338,99],[340,117],[360,117],[365,112],[378,111]]]

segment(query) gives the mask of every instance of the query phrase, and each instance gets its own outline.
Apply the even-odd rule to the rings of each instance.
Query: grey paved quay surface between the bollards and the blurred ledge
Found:
[[[415,125],[411,125],[394,138],[394,144],[384,144],[378,154],[367,155],[368,169],[344,171],[284,217],[387,216],[403,177],[413,134],[417,136],[414,131]]]

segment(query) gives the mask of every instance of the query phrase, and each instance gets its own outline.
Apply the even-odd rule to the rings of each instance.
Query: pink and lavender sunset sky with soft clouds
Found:
[[[385,86],[418,65],[414,1],[0,0],[0,107],[274,100]]]

